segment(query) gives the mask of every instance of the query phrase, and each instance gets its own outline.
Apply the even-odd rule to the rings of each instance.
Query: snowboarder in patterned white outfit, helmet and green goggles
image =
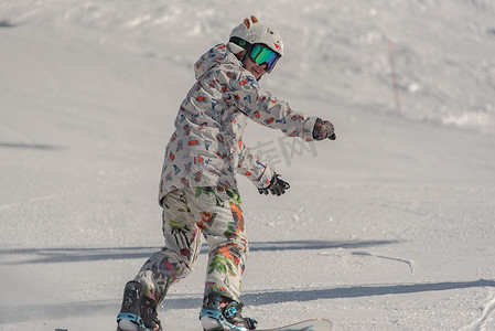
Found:
[[[308,141],[335,139],[330,121],[295,111],[260,87],[282,55],[280,33],[251,15],[227,44],[195,63],[197,82],[180,106],[164,154],[159,202],[165,246],[126,285],[117,330],[162,330],[157,306],[193,270],[203,237],[209,245],[203,329],[256,329],[239,300],[248,243],[236,173],[260,194],[281,195],[290,186],[244,145],[247,121]]]

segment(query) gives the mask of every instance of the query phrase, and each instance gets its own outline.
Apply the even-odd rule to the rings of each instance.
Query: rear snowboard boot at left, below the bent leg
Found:
[[[122,307],[117,316],[117,331],[162,331],[157,303],[143,292],[141,284],[126,284]]]

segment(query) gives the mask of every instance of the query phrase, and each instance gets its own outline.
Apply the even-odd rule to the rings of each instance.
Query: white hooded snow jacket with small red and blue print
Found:
[[[243,143],[248,119],[313,140],[316,117],[294,111],[261,89],[225,44],[201,56],[194,70],[197,82],[181,104],[165,149],[160,202],[181,188],[236,189],[236,172],[257,188],[269,185],[273,170]]]

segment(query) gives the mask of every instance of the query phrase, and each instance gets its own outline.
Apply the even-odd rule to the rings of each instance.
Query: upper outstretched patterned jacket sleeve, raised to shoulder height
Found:
[[[232,97],[237,108],[249,119],[279,129],[289,137],[313,140],[313,127],[318,117],[293,110],[288,103],[262,89],[246,70],[241,70],[237,79],[230,82]]]

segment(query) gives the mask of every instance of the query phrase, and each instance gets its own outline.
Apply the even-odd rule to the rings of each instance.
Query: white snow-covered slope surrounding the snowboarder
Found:
[[[248,128],[291,190],[240,182],[245,314],[495,330],[491,0],[0,0],[0,330],[115,330],[162,245],[162,153],[192,65],[251,13],[286,44],[261,84],[338,138]],[[165,330],[201,329],[205,264],[172,287]]]

